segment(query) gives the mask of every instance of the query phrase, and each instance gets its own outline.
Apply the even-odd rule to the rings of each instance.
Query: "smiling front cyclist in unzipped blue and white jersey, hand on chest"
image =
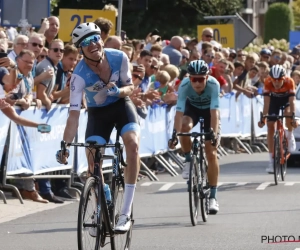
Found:
[[[86,141],[99,144],[109,142],[116,125],[126,147],[125,191],[121,213],[115,231],[126,233],[130,229],[131,206],[139,172],[140,126],[135,106],[129,95],[133,91],[130,64],[127,55],[119,50],[104,49],[101,30],[94,23],[82,23],[72,32],[72,42],[79,48],[83,59],[76,66],[70,86],[70,113],[63,139],[73,141],[81,109],[83,92],[88,107]],[[90,171],[94,157],[87,151]],[[57,152],[57,160],[65,163],[69,152]],[[104,184],[104,183],[103,183]],[[95,219],[95,216],[94,216]],[[96,236],[95,228],[89,233]]]

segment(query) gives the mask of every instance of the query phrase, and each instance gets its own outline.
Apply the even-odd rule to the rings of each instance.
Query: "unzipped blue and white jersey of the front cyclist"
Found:
[[[104,52],[111,69],[109,82],[114,82],[117,87],[132,84],[127,55],[114,49],[104,49]],[[71,78],[70,110],[81,109],[83,91],[86,94],[88,107],[104,107],[118,101],[119,97],[107,95],[105,85],[106,83],[100,79],[86,62],[81,60]]]

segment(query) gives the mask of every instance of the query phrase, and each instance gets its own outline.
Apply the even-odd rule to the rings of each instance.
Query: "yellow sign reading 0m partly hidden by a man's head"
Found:
[[[214,40],[222,44],[223,48],[235,48],[233,24],[198,25],[198,41],[201,41],[202,31],[205,28],[213,29]]]

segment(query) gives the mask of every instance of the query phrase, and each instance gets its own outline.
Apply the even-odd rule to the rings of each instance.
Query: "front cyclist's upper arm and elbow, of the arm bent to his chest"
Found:
[[[120,79],[121,79],[121,88],[120,88],[120,98],[130,96],[133,92],[134,86],[132,83],[132,76],[130,71],[130,62],[128,56],[123,52],[123,59],[120,69]]]

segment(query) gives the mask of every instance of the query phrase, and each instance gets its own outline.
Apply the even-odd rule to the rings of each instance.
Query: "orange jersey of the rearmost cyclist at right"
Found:
[[[272,78],[265,79],[264,96],[287,97],[295,95],[295,82],[290,77],[285,77],[280,89],[275,89]]]

